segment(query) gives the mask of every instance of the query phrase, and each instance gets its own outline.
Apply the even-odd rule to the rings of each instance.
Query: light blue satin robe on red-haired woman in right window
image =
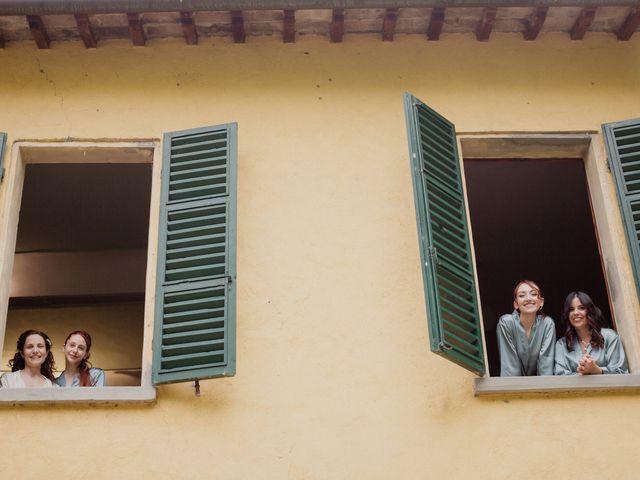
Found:
[[[514,311],[500,317],[496,334],[501,377],[553,375],[556,325],[551,317],[537,315],[527,337]]]

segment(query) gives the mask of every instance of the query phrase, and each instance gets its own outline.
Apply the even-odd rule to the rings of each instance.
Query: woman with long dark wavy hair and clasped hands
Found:
[[[618,334],[603,328],[602,312],[584,292],[564,301],[564,337],[556,344],[556,375],[629,373]]]

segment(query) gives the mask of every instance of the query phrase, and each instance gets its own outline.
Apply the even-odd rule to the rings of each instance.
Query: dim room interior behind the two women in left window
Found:
[[[2,369],[18,335],[45,331],[58,371],[73,330],[93,339],[109,385],[140,385],[149,163],[26,166]]]

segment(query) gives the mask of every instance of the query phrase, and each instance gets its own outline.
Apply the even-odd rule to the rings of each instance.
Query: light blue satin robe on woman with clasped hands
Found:
[[[610,328],[603,328],[600,333],[604,337],[604,348],[587,346],[587,353],[602,369],[602,373],[629,373],[627,357],[622,348],[618,334]],[[563,337],[556,343],[556,375],[577,375],[578,363],[583,357],[580,341],[573,342],[573,351],[567,349],[566,339]]]

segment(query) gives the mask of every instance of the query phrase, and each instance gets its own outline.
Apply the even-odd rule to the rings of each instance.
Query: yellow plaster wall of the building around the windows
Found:
[[[639,58],[599,34],[8,44],[9,147],[239,123],[238,367],[151,407],[4,408],[0,472],[637,478],[637,395],[479,399],[429,353],[401,94],[462,132],[597,130],[640,116]]]

